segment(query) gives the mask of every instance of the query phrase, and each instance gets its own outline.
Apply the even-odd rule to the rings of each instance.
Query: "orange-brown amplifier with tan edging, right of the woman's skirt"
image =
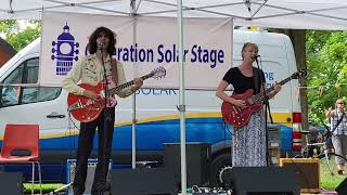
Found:
[[[281,158],[281,167],[290,167],[295,170],[296,181],[300,185],[300,192],[320,192],[319,159],[316,158]]]

